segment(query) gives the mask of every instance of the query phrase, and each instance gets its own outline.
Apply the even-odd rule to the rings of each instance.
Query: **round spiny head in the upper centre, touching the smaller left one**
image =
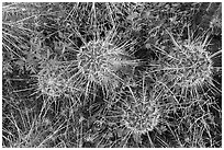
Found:
[[[123,82],[117,71],[134,64],[128,57],[124,49],[107,39],[91,41],[80,47],[78,69],[87,83],[112,90]]]

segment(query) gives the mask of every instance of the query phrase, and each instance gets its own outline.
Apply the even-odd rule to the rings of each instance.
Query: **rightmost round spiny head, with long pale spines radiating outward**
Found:
[[[213,61],[212,55],[208,51],[209,35],[200,36],[183,42],[176,41],[167,31],[173,47],[163,49],[156,47],[160,54],[157,66],[154,65],[153,72],[164,76],[163,81],[173,93],[191,96],[199,96],[204,86],[213,86]],[[190,33],[189,33],[190,34]]]

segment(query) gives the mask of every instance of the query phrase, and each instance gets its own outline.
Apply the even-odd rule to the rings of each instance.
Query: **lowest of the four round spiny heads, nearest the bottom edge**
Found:
[[[160,118],[158,97],[146,78],[143,74],[142,81],[128,86],[130,93],[123,103],[123,124],[137,135],[154,130]]]

